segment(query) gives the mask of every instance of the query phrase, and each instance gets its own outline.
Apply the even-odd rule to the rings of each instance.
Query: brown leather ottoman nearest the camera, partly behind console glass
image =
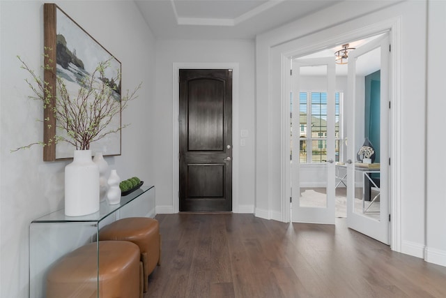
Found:
[[[47,298],[139,298],[139,247],[128,241],[96,242],[68,253],[47,276]]]

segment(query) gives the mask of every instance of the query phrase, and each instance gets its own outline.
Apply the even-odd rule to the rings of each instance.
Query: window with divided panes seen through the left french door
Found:
[[[334,140],[335,160],[339,161],[339,141],[341,140],[341,101],[343,94],[337,92],[335,98]],[[300,92],[300,163],[325,163],[327,161],[327,93]]]

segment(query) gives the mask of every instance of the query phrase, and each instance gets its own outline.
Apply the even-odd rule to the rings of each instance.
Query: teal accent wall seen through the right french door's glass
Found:
[[[380,70],[365,77],[364,135],[375,149],[375,163],[380,162]]]

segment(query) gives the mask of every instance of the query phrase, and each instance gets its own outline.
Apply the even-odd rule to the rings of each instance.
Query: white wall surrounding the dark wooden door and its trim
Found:
[[[233,189],[233,197],[238,198],[234,210],[254,212],[254,40],[157,40],[156,43],[156,96],[151,119],[154,131],[153,170],[156,173],[157,213],[174,211],[173,158],[174,125],[173,89],[175,64],[238,64],[238,111],[234,111],[233,121],[238,122],[239,130],[245,129],[249,135],[246,146],[238,149],[239,179]],[[238,116],[237,116],[238,114]],[[233,142],[237,146],[240,131],[234,131]],[[235,163],[236,161],[234,161]],[[238,183],[240,182],[240,183]]]

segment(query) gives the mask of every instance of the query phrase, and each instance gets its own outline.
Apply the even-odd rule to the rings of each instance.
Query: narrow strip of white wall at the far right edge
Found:
[[[426,154],[426,260],[446,266],[446,2],[429,1]]]

